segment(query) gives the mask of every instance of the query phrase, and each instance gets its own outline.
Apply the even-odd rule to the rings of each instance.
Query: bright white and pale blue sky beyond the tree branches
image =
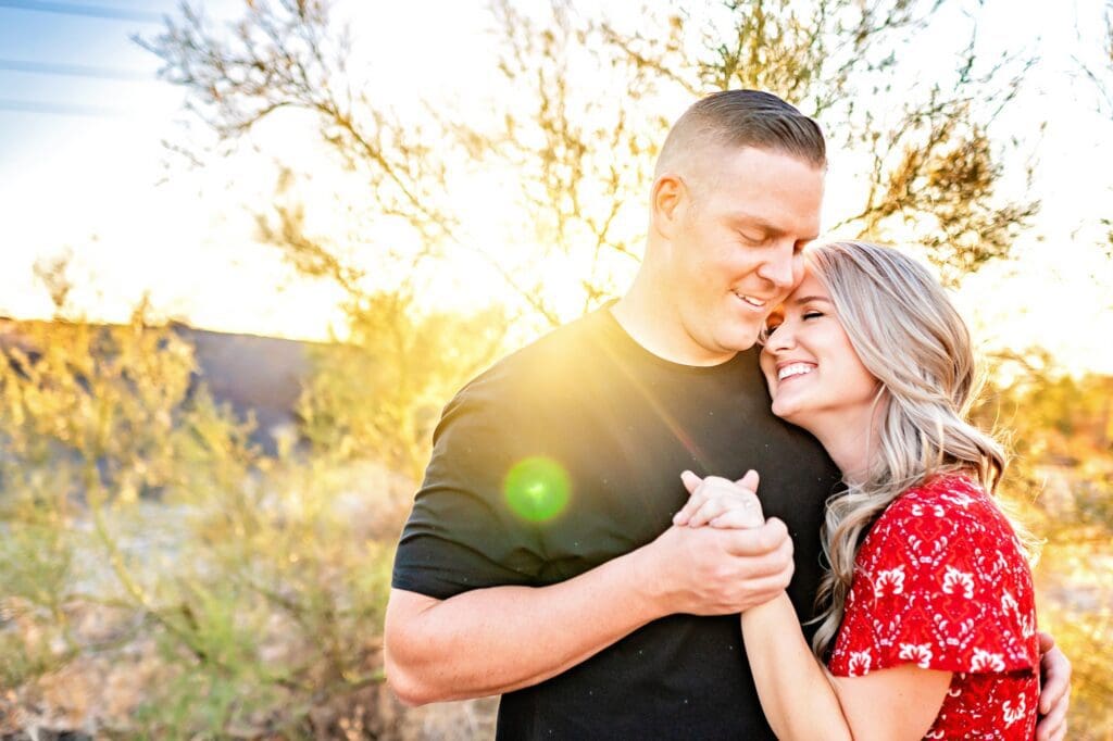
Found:
[[[1097,49],[1104,4],[1048,11],[1035,0],[987,0],[981,11],[993,29],[987,51],[1020,45],[1041,57],[1002,129],[1037,151],[1031,192],[1043,208],[1016,259],[969,278],[958,303],[986,343],[1044,345],[1072,372],[1113,373],[1113,263],[1095,245],[1100,218],[1113,216],[1113,116],[1095,109],[1078,66]],[[237,3],[205,7],[220,17]],[[400,91],[459,92],[486,69],[482,0],[338,7],[370,60],[404,60]],[[174,11],[166,0],[0,0],[0,315],[49,315],[32,266],[68,250],[75,299],[93,318],[122,319],[146,292],[158,312],[195,326],[324,337],[341,319],[336,292],[297,278],[254,239],[250,209],[273,189],[272,174],[236,159],[165,169],[162,140],[181,136],[181,93],[157,79],[158,60],[130,36],[157,32],[152,21]],[[949,63],[939,48],[926,39],[909,53],[927,69]],[[312,157],[297,142],[290,154]],[[836,152],[830,209],[854,188],[840,177]],[[459,305],[490,295],[480,267],[451,273],[456,283],[441,293]]]

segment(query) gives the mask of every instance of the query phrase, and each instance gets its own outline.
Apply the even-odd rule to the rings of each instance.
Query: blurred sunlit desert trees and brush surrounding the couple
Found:
[[[53,319],[0,328],[0,733],[490,734],[490,703],[406,712],[382,684],[394,541],[441,407],[622,290],[666,113],[711,90],[777,92],[853,155],[861,187],[836,198],[831,234],[899,243],[956,289],[1009,259],[1041,204],[1035,152],[999,116],[1038,60],[982,58],[988,31],[954,4],[651,4],[631,26],[501,0],[486,83],[501,105],[423,100],[420,118],[363,85],[328,3],[248,1],[229,23],[184,4],[137,38],[191,111],[194,135],[168,142],[177,166],[263,151],[275,186],[253,213],[259,241],[333,286],[344,323],[305,347],[289,423],[260,424],[221,401],[228,381],[205,372],[197,335],[146,303],[127,325],[89,322],[65,256],[40,261]],[[968,43],[924,78],[899,52],[940,18]],[[1113,120],[1113,6],[1106,20],[1105,65],[1078,73]],[[332,185],[267,127],[312,140]],[[512,249],[456,197],[484,174],[513,182],[490,204]],[[1113,259],[1105,215],[1078,218]],[[431,310],[421,297],[460,259],[498,300]],[[1037,339],[987,352],[976,417],[1009,435],[1006,496],[1046,541],[1040,615],[1074,663],[1071,738],[1111,739],[1113,376],[1072,372]],[[240,376],[258,377],[249,363]]]

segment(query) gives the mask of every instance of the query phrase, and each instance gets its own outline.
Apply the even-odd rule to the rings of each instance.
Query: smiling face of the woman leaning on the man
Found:
[[[830,296],[810,271],[767,324],[761,370],[778,417],[812,433],[864,429],[879,382],[858,359]],[[859,424],[861,426],[859,426]]]

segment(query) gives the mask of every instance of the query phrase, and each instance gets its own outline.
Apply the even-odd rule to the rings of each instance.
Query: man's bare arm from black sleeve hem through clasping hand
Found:
[[[386,678],[408,704],[501,694],[554,676],[673,613],[729,614],[766,602],[792,574],[784,523],[671,527],[560,584],[494,586],[447,600],[393,590]]]

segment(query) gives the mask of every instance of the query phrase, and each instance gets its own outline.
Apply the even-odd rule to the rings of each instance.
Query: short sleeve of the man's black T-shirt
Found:
[[[445,407],[425,478],[398,542],[392,585],[439,600],[496,585],[535,585],[535,527],[503,497],[514,461],[512,409],[484,379]]]

